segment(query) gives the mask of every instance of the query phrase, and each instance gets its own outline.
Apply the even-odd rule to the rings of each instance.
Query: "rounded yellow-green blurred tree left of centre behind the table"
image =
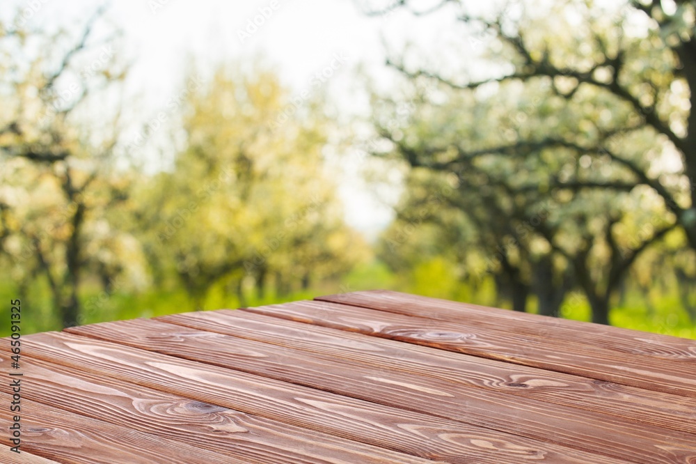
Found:
[[[244,281],[263,297],[273,277],[283,294],[345,272],[364,254],[323,169],[321,115],[293,103],[265,70],[221,68],[189,94],[186,146],[139,216],[152,224],[145,247],[169,263],[196,309],[217,284],[244,302]]]

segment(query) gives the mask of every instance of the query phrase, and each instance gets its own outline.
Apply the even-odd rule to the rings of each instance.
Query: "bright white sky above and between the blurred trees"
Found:
[[[429,3],[433,2],[420,2],[423,6]],[[74,29],[74,24],[84,24],[100,4],[93,0],[3,0],[1,8],[3,17],[12,13],[12,6],[29,8],[25,11],[30,25]],[[261,16],[264,13],[266,17]],[[388,17],[369,18],[361,14],[354,0],[118,0],[111,4],[106,20],[125,33],[125,49],[119,53],[132,63],[129,98],[140,109],[142,121],[166,107],[180,89],[191,56],[210,63],[212,69],[219,61],[252,62],[262,55],[278,66],[287,85],[298,92],[340,56],[345,64],[329,79],[326,89],[343,111],[357,111],[361,107],[356,102],[364,101],[364,95],[356,95],[351,85],[357,65],[364,65],[383,83],[390,79],[383,64],[382,36],[395,44],[417,40],[422,48],[424,43],[441,42],[443,31],[456,30],[451,13],[413,18],[397,10]],[[260,25],[247,31],[250,20]],[[347,173],[340,194],[349,224],[374,236],[390,220],[390,210],[364,187],[353,173]]]

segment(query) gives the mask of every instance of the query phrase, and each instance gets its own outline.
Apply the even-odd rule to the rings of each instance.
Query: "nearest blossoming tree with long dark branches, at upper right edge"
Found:
[[[410,3],[398,1],[396,6],[408,8]],[[690,91],[696,88],[696,1],[632,0],[608,5],[565,0],[553,6],[510,2],[493,15],[472,15],[467,4],[459,0],[444,0],[434,9],[443,6],[455,6],[457,18],[469,30],[480,32],[485,42],[476,39],[477,43],[487,45],[489,64],[496,64],[491,69],[498,75],[454,79],[426,68],[407,68],[404,59],[390,58],[389,65],[408,77],[430,77],[465,92],[493,83],[545,84],[549,97],[560,97],[567,105],[586,101],[585,89],[591,88],[605,102],[595,109],[624,114],[620,121],[601,114],[588,121],[594,126],[590,134],[594,137],[551,124],[540,133],[505,137],[503,144],[478,150],[460,145],[460,158],[490,153],[514,156],[530,146],[569,145],[578,148],[578,157],[608,156],[631,173],[632,183],[648,185],[663,197],[690,246],[696,249],[696,112],[692,111],[696,93]],[[393,8],[369,13],[379,15]],[[506,68],[512,72],[499,72]],[[622,144],[646,130],[653,137],[642,153],[622,153]],[[663,156],[656,156],[656,152]],[[676,171],[659,167],[674,161],[681,162]],[[585,186],[628,187],[625,183]],[[564,185],[557,181],[550,187]]]

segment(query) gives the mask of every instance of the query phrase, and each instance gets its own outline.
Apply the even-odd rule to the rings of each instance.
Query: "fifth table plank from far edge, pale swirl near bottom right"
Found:
[[[22,352],[26,357],[432,460],[624,462],[73,334],[48,332],[23,339],[30,337],[31,343],[26,343]],[[679,454],[681,451],[674,455]],[[644,462],[642,456],[644,450],[635,455],[634,462]],[[676,461],[654,461],[658,462]]]

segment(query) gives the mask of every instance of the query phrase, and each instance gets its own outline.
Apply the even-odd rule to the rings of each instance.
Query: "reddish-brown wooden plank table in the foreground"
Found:
[[[3,463],[696,463],[695,341],[404,293],[33,334],[20,370]]]

